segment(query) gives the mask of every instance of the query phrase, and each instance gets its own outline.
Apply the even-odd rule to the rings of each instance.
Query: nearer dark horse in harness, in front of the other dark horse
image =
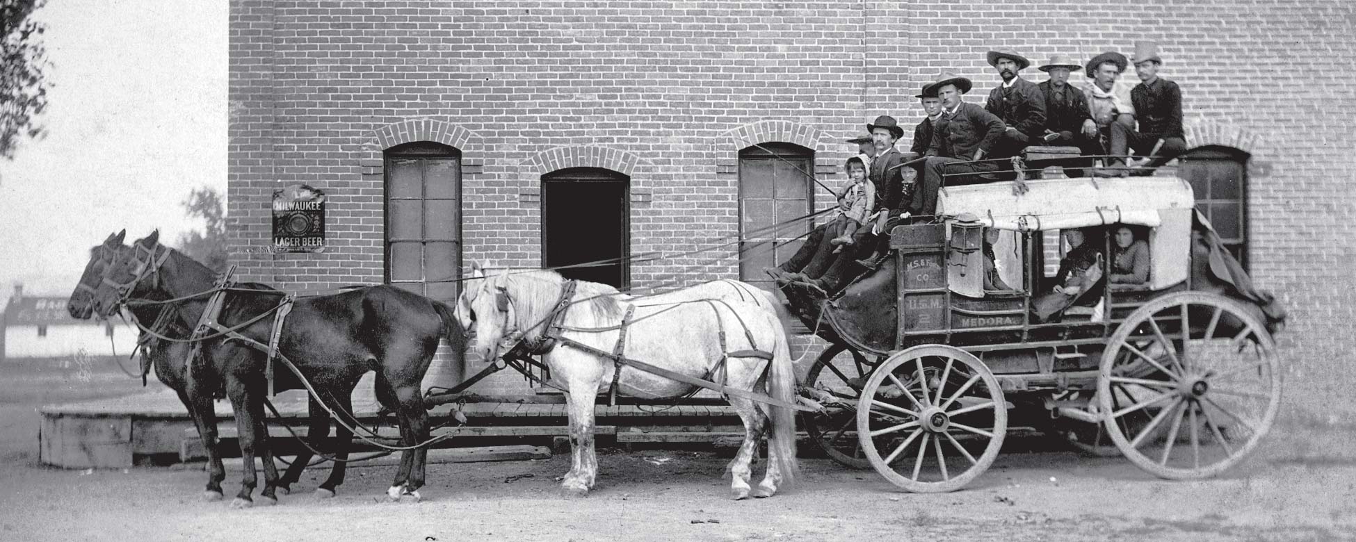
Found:
[[[212,270],[161,245],[157,232],[133,243],[130,249],[114,259],[94,295],[94,308],[107,316],[127,301],[183,298],[212,290],[214,283]],[[268,344],[271,316],[251,320],[273,310],[282,295],[275,290],[232,290],[217,321],[240,327],[239,333]],[[178,322],[193,328],[206,309],[207,297],[194,297],[176,305]],[[377,398],[396,413],[401,442],[410,447],[428,438],[427,411],[419,386],[439,337],[447,339],[456,355],[464,352],[465,335],[450,306],[392,286],[374,286],[297,299],[278,346],[279,352],[298,367],[335,411],[353,412],[350,397],[354,386],[366,371],[377,371]],[[245,470],[233,504],[252,503],[256,451],[264,465],[262,495],[271,503],[277,499],[275,488],[281,481],[273,454],[264,446],[267,355],[244,341],[220,337],[205,340],[201,347],[201,356],[187,369],[187,388],[190,396],[212,397],[224,392],[235,409]],[[277,373],[279,388],[286,389],[292,383],[287,382],[287,371],[279,364]],[[313,415],[317,413],[315,406]],[[328,434],[328,420],[317,427],[313,417],[312,430],[312,435]],[[344,436],[343,430],[340,436]],[[403,450],[400,469],[388,495],[393,499],[401,495],[419,497],[418,489],[424,484],[424,455],[423,447]],[[302,458],[294,462],[293,469],[300,469],[298,463],[304,463]]]

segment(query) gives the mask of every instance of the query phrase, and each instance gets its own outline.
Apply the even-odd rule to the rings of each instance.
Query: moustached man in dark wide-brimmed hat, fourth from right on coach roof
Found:
[[[1021,79],[1021,72],[1031,65],[1026,57],[1012,47],[998,47],[987,54],[989,65],[998,70],[1003,83],[989,91],[984,110],[1003,121],[1006,129],[998,146],[990,153],[994,159],[1017,156],[1021,149],[1040,141],[1045,131],[1045,95],[1035,83]]]

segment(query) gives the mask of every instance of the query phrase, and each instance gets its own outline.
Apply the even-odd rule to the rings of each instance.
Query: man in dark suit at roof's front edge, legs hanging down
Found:
[[[909,213],[914,217],[937,213],[937,191],[941,188],[942,173],[983,173],[1001,168],[999,163],[976,161],[989,156],[1003,137],[1003,121],[963,99],[970,92],[971,83],[956,75],[942,75],[928,85],[941,100],[941,118],[933,126],[933,137],[928,145],[928,161],[923,163],[922,186],[914,191]]]

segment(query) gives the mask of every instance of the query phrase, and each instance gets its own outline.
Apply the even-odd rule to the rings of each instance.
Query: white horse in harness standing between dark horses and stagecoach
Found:
[[[629,298],[610,286],[580,280],[557,316],[565,289],[567,280],[553,271],[485,276],[473,268],[458,306],[473,320],[473,348],[483,359],[498,358],[519,340],[536,344],[544,333],[556,339],[541,360],[567,390],[572,449],[571,469],[561,482],[567,495],[587,495],[598,474],[593,431],[599,392],[609,390],[613,381],[618,394],[641,398],[682,397],[693,389],[635,364],[622,367],[617,377],[617,364],[607,355],[613,352],[677,375],[728,386],[727,400],[744,423],[744,442],[730,462],[735,499],[772,496],[778,485],[793,481],[797,470],[793,411],[739,397],[740,390],[761,392],[784,405],[795,404],[789,346],[776,312],[757,301],[728,295],[693,299],[670,293],[664,294],[667,299]],[[625,340],[618,347],[622,332]],[[750,462],[765,428],[770,461],[763,480],[753,489]]]

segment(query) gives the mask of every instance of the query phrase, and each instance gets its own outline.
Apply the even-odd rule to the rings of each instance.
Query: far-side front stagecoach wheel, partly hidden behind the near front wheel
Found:
[[[845,356],[842,354],[849,354]],[[873,363],[845,344],[831,344],[815,359],[805,377],[811,398],[822,402],[820,412],[801,417],[805,432],[830,459],[853,469],[869,469],[871,461],[857,439],[857,398]]]

